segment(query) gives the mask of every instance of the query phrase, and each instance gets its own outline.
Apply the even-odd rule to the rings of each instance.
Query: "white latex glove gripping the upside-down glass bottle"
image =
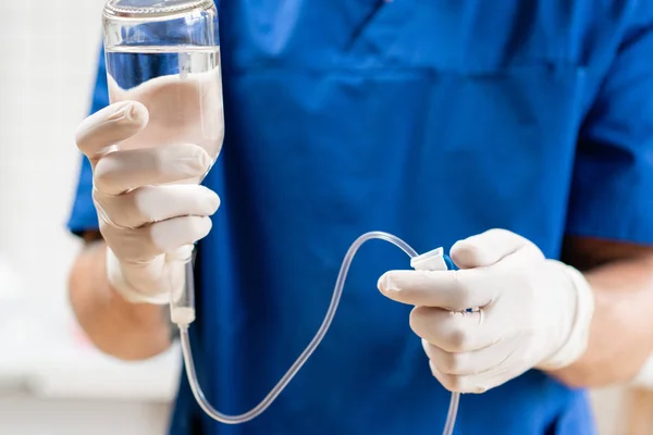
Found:
[[[199,181],[211,165],[201,147],[120,150],[147,124],[145,105],[124,101],[86,119],[76,141],[94,171],[109,283],[132,302],[162,304],[171,291],[183,288],[192,245],[209,233],[209,216],[220,200],[208,188],[187,183]]]

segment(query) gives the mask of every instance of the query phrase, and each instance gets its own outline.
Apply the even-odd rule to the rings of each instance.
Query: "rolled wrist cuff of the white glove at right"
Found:
[[[544,371],[560,370],[576,362],[586,352],[590,338],[590,325],[594,314],[592,287],[575,268],[563,264],[563,271],[571,279],[576,293],[576,311],[567,340],[552,357],[538,365],[538,369]]]

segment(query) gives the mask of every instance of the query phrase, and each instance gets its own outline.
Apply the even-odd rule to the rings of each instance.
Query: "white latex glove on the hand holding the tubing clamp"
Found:
[[[456,243],[451,258],[459,271],[391,271],[379,279],[383,295],[416,306],[410,326],[445,388],[483,393],[584,353],[594,299],[580,272],[505,229]],[[480,311],[463,312],[472,307]]]

